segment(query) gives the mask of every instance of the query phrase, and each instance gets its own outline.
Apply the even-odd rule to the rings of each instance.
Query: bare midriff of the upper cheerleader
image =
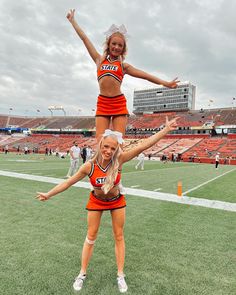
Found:
[[[120,89],[121,83],[113,77],[103,77],[99,80],[100,94],[104,96],[117,96],[122,94]]]

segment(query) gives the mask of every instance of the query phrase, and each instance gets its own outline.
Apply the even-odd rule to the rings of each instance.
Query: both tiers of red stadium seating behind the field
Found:
[[[128,131],[125,137],[124,149],[132,149],[142,140],[150,136],[165,124],[166,116],[169,119],[178,116],[178,130],[175,134],[166,136],[155,146],[145,151],[146,155],[161,157],[163,154],[171,158],[171,155],[181,154],[184,161],[193,156],[196,159],[214,160],[217,152],[221,158],[230,157],[236,159],[236,135],[220,134],[211,137],[212,126],[236,126],[236,109],[209,109],[189,112],[168,112],[158,114],[145,114],[130,116],[128,119]],[[15,136],[0,136],[0,148],[8,144],[10,151],[15,151],[17,146],[21,149],[28,146],[30,150],[37,148],[40,153],[45,152],[45,148],[52,150],[59,149],[66,152],[77,140],[80,146],[90,145],[96,147],[94,137],[84,137],[81,134],[64,134],[64,130],[95,130],[95,117],[20,117],[0,115],[0,128],[8,126],[19,126],[25,128],[36,128],[37,130],[59,130],[59,134],[33,134],[23,138]],[[218,127],[219,128],[219,127]],[[141,132],[139,132],[141,130]],[[206,131],[207,130],[207,131]],[[138,132],[136,132],[138,131]],[[85,134],[85,133],[84,133]],[[222,137],[221,137],[222,136]]]

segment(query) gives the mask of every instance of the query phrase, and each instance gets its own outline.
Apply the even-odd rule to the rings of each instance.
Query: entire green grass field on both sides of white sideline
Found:
[[[0,154],[0,170],[63,178],[68,166],[68,159]],[[126,187],[175,194],[180,180],[184,192],[212,180],[187,195],[236,203],[235,166],[215,170],[213,165],[156,161],[146,161],[144,171],[134,166],[132,161],[123,167]],[[0,294],[75,294],[88,190],[72,187],[45,203],[34,198],[36,191],[53,186],[0,176]],[[126,199],[127,294],[236,293],[235,212]],[[119,294],[109,212],[80,294]]]

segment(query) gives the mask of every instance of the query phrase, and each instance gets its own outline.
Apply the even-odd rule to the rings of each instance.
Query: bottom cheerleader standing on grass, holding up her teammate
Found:
[[[129,151],[122,151],[123,143],[120,132],[106,130],[98,145],[98,150],[92,160],[82,165],[79,171],[70,179],[58,184],[47,193],[38,192],[36,198],[40,201],[47,201],[56,194],[59,194],[76,182],[90,178],[90,183],[94,190],[90,192],[90,198],[86,209],[88,210],[88,230],[84,241],[81,257],[81,270],[77,276],[73,288],[80,291],[86,279],[87,267],[93,253],[94,244],[99,231],[100,221],[104,210],[110,210],[112,227],[115,239],[115,255],[117,262],[117,283],[120,292],[126,292],[128,287],[125,282],[124,262],[125,262],[125,207],[124,195],[119,192],[119,182],[121,180],[121,169],[125,162],[138,156],[144,150],[152,147],[169,131],[176,128],[176,119],[168,121],[166,126],[158,133],[144,139],[136,147]]]

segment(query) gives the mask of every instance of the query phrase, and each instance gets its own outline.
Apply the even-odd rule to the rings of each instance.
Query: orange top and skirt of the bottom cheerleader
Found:
[[[111,162],[105,167],[101,167],[96,161],[96,163],[91,163],[91,171],[89,173],[89,179],[92,186],[96,189],[101,189],[103,186],[106,176],[107,170],[111,165]],[[121,179],[121,171],[118,171],[116,180],[114,181],[114,186],[120,183]],[[94,191],[90,193],[89,201],[87,203],[86,209],[90,211],[103,211],[103,210],[114,210],[120,209],[126,206],[126,201],[124,195],[118,194],[115,197],[99,197],[94,194]]]

